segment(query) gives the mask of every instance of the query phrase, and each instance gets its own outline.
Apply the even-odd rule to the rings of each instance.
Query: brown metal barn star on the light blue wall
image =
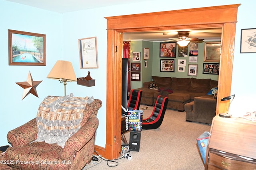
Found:
[[[42,81],[33,81],[33,78],[30,74],[30,71],[28,72],[28,78],[26,82],[17,82],[16,84],[18,84],[20,87],[24,88],[24,92],[23,92],[23,96],[22,99],[23,100],[26,96],[28,96],[28,94],[34,94],[34,96],[38,97],[37,92],[36,92],[36,87],[41,83]]]

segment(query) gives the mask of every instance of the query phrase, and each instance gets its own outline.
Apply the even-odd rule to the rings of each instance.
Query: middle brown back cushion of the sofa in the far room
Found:
[[[172,89],[175,90],[186,90],[190,89],[190,78],[172,78]],[[209,90],[209,89],[208,89]]]

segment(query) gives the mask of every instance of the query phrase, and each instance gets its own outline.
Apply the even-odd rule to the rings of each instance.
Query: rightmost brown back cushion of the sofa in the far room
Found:
[[[190,92],[208,92],[210,89],[210,78],[207,79],[197,79],[197,78],[191,78],[191,84],[190,84]]]

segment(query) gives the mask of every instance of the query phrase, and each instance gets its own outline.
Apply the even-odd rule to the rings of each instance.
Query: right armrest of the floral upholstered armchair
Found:
[[[62,156],[65,158],[72,156],[88,143],[95,135],[99,120],[97,117],[91,117],[74,135],[65,143]]]

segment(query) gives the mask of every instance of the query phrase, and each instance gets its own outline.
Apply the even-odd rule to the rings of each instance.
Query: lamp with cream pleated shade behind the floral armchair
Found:
[[[66,96],[67,82],[76,82],[76,74],[74,72],[72,63],[69,61],[58,60],[48,74],[47,78],[59,80],[60,83],[64,82],[64,94]]]

